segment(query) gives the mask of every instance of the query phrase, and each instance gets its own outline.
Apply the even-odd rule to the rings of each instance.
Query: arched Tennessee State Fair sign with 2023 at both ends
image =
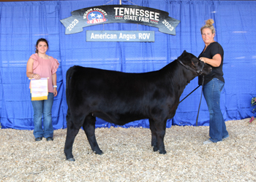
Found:
[[[138,23],[159,28],[162,33],[176,35],[180,20],[169,17],[169,13],[133,5],[105,5],[88,7],[71,12],[72,16],[60,20],[65,26],[65,34],[78,33],[83,27],[104,23]]]

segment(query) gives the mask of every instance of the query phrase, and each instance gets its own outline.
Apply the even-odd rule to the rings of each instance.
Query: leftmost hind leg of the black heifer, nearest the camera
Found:
[[[75,136],[78,135],[79,128],[76,129],[74,127],[71,127],[71,123],[67,125],[67,136],[66,136],[66,142],[65,142],[65,147],[64,147],[64,153],[66,155],[66,159],[68,161],[75,161],[73,154],[72,154],[72,148],[73,148],[73,143],[75,141]]]

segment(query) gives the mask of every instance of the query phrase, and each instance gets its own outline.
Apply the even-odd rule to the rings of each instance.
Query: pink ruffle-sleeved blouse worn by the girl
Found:
[[[53,74],[56,73],[57,68],[59,68],[59,62],[53,57],[45,60],[39,58],[37,53],[31,55],[30,58],[34,60],[33,63],[33,74],[39,74],[41,78],[49,78],[48,79],[48,92],[53,92]],[[31,83],[29,84],[29,88],[31,88]]]

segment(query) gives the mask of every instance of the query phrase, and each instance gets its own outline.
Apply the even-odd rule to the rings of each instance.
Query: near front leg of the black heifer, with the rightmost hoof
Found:
[[[165,119],[165,121],[155,121],[155,127],[157,130],[157,149],[160,154],[166,154],[164,143],[166,122],[167,119]]]

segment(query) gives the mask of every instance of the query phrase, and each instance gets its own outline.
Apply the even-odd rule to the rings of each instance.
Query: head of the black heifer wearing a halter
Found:
[[[204,63],[203,61],[199,60],[195,55],[184,50],[182,55],[180,55],[177,59],[183,66],[187,69],[195,72],[195,74],[210,74],[211,73],[211,66]]]

